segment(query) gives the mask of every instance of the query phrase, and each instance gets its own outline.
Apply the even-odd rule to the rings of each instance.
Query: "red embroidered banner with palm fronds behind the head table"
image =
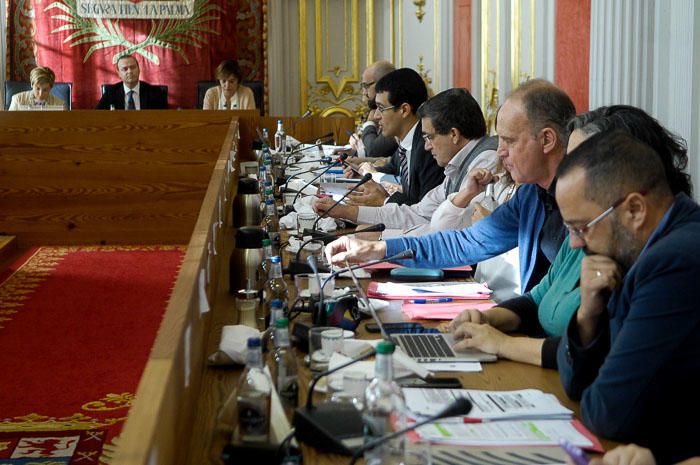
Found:
[[[194,108],[197,81],[237,59],[244,80],[263,80],[267,0],[11,0],[9,76],[37,64],[73,83],[73,108],[94,108],[115,63],[133,54],[141,80],[168,86],[170,108]]]

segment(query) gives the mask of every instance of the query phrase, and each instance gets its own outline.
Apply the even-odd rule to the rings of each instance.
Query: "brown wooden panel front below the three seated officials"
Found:
[[[0,114],[0,224],[32,244],[185,244],[231,115]]]

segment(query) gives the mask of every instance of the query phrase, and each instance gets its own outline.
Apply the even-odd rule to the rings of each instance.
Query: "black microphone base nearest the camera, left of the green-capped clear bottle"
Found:
[[[364,444],[362,416],[351,404],[324,402],[311,409],[299,407],[293,424],[297,439],[326,452],[352,455]]]

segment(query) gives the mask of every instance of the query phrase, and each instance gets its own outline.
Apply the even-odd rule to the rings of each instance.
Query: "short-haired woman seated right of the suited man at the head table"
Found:
[[[241,85],[243,76],[238,62],[224,60],[215,71],[219,85],[204,95],[204,110],[255,110],[253,91]]]

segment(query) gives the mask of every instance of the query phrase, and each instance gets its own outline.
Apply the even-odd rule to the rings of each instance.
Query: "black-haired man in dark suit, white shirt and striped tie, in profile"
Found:
[[[387,192],[381,184],[368,182],[361,193],[351,195],[349,203],[369,206],[416,204],[445,178],[444,170],[425,150],[421,121],[416,114],[418,107],[428,99],[428,90],[423,78],[410,68],[392,71],[377,81],[375,89],[377,110],[374,119],[382,134],[395,137],[399,142],[391,161],[376,171],[397,176],[401,190]],[[322,207],[319,205],[319,209]]]

